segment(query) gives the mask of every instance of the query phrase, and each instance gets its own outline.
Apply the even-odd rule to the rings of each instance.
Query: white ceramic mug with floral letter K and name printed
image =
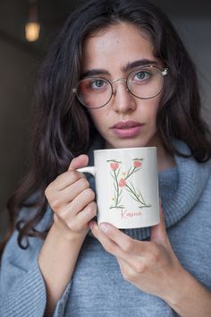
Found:
[[[156,148],[94,151],[94,167],[78,169],[95,176],[97,223],[118,228],[159,223]]]

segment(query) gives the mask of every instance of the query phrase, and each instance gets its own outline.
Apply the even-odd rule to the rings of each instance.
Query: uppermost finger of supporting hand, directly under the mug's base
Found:
[[[148,242],[138,242],[132,239],[130,236],[125,235],[122,231],[112,226],[111,224],[104,222],[99,225],[99,228],[105,233],[105,236],[109,237],[122,249],[122,251],[126,253],[140,254],[148,251]]]

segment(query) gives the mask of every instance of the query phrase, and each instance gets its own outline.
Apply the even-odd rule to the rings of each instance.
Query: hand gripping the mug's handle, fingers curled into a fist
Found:
[[[76,171],[88,165],[88,156],[72,159],[68,171],[46,187],[46,199],[55,212],[54,224],[67,237],[83,236],[89,231],[89,221],[96,215],[95,193],[85,176]]]

